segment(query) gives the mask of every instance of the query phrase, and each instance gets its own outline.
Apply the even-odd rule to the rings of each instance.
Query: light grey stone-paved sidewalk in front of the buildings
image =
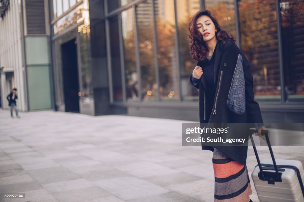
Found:
[[[181,146],[181,123],[133,116],[0,109],[0,193],[31,202],[212,202],[212,152]],[[260,157],[270,158],[267,147]],[[274,147],[304,163],[304,147]],[[249,175],[256,165],[248,149]],[[258,201],[250,177],[253,201]]]

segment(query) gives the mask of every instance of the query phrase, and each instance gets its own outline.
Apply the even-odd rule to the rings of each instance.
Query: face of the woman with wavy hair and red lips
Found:
[[[202,34],[205,42],[207,41],[216,41],[214,23],[207,15],[202,15],[196,20],[196,26],[199,32]]]

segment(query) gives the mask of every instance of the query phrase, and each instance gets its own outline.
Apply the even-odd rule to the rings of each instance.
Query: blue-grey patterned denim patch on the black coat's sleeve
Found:
[[[234,70],[230,92],[228,95],[227,106],[236,113],[245,113],[245,78],[243,71],[243,58],[239,54],[237,65]]]

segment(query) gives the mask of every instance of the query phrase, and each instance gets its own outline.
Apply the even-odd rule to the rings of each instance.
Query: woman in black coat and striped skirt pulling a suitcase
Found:
[[[208,10],[189,20],[190,50],[197,61],[190,83],[199,89],[200,123],[255,123],[264,130],[254,101],[250,64]],[[202,146],[213,151],[214,201],[248,202],[252,194],[246,167],[247,146]]]

